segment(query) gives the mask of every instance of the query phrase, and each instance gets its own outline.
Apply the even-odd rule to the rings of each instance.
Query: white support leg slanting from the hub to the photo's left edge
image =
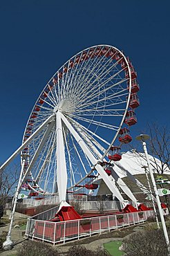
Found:
[[[14,152],[14,154],[12,154],[12,156],[10,156],[3,165],[1,165],[0,170],[3,170],[3,168],[5,168],[24,149],[24,147],[28,146],[30,141],[32,141],[35,136],[37,136],[37,134],[39,134],[39,132],[42,131],[44,127],[51,122],[51,120],[53,120],[53,118],[54,115],[50,116],[42,125],[40,125],[40,127]]]

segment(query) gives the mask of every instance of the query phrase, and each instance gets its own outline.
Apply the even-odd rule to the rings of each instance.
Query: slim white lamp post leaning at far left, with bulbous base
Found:
[[[3,250],[10,250],[13,247],[13,242],[11,240],[11,231],[12,231],[12,223],[15,217],[15,209],[16,209],[16,205],[17,205],[17,199],[18,199],[18,195],[19,195],[19,189],[21,186],[21,178],[22,178],[22,174],[23,174],[23,167],[24,164],[26,162],[26,157],[23,156],[23,161],[21,164],[21,172],[19,175],[19,181],[18,181],[18,185],[17,185],[17,190],[15,192],[15,196],[14,196],[14,203],[12,205],[12,212],[10,215],[10,226],[9,226],[9,230],[8,230],[8,235],[6,237],[6,241],[3,242]]]

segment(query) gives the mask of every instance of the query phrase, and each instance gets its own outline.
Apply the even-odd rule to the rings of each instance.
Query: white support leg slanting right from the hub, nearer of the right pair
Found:
[[[98,163],[98,160],[95,158],[95,156],[93,156],[90,149],[88,149],[86,143],[84,143],[84,140],[82,140],[82,138],[79,136],[79,134],[77,134],[77,131],[75,131],[75,129],[72,127],[72,125],[70,125],[70,122],[68,122],[68,120],[65,118],[65,116],[62,113],[61,113],[61,117],[62,117],[62,120],[64,121],[66,127],[69,129],[70,133],[73,135],[75,140],[77,140],[77,143],[82,148],[84,154],[86,154],[86,156],[91,161],[93,166],[95,166],[95,169],[100,174],[100,176],[102,177],[102,179],[104,180],[104,182],[106,183],[108,188],[111,190],[111,192],[113,192],[113,194],[117,197],[117,199],[119,199],[120,202],[124,206],[126,206],[126,202],[124,201],[122,194],[120,194],[120,191],[117,189],[117,187],[113,183],[113,177],[111,178],[110,176],[108,176],[106,174],[106,172],[104,172],[102,166]]]

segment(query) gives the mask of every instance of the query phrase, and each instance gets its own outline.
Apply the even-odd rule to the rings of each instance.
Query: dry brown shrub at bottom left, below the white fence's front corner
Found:
[[[23,242],[17,252],[17,256],[58,256],[56,250],[50,245],[39,242],[28,240]],[[73,255],[72,255],[73,256]]]

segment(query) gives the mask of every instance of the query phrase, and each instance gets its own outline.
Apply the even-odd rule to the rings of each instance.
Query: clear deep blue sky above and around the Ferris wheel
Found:
[[[19,147],[46,82],[71,56],[110,44],[131,57],[140,82],[137,136],[147,122],[169,125],[169,1],[0,2],[0,163]]]

